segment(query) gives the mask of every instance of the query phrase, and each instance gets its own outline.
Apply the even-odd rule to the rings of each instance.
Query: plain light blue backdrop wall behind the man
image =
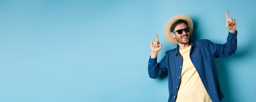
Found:
[[[166,77],[148,76],[150,40],[186,14],[192,39],[238,49],[216,58],[222,102],[255,102],[255,0],[0,0],[0,102],[167,102]]]

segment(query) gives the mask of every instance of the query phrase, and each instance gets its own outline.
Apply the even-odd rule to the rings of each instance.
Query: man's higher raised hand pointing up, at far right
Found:
[[[229,11],[226,14],[226,27],[229,29],[230,33],[236,33],[236,20],[229,18]]]

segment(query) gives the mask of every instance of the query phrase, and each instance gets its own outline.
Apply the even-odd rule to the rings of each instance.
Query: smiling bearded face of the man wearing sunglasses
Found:
[[[177,26],[174,28],[174,30],[176,31],[176,30],[180,30],[180,29],[184,29],[184,28],[187,28],[186,24],[181,23],[181,24],[177,24]],[[175,32],[175,33],[171,33],[171,35],[180,44],[187,44],[187,43],[189,43],[189,32],[186,33],[183,30],[182,34],[178,34],[177,32]]]

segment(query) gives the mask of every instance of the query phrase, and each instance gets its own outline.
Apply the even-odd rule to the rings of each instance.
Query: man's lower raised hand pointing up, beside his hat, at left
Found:
[[[155,35],[157,41],[150,41],[151,46],[151,58],[156,58],[157,53],[162,49],[162,44],[160,44],[157,34]]]

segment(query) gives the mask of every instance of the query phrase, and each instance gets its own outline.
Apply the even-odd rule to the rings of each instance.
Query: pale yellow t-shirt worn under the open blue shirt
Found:
[[[176,102],[212,102],[190,59],[191,45],[180,50],[183,57],[180,87]]]

